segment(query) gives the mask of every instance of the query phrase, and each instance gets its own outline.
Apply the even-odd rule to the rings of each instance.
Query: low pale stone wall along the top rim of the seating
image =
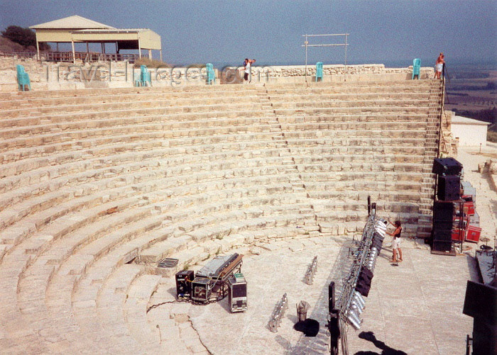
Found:
[[[139,70],[128,62],[53,63],[0,56],[0,91],[17,91],[16,64],[22,64],[31,79],[32,90],[131,87]],[[151,68],[152,86],[205,85],[205,68]],[[315,81],[315,66],[293,65],[253,67],[251,84],[303,84]],[[408,80],[412,67],[386,68],[383,64],[324,65],[323,81]],[[109,76],[110,73],[110,76]],[[421,68],[420,79],[432,79],[433,68]],[[239,84],[242,67],[216,69],[216,84]]]

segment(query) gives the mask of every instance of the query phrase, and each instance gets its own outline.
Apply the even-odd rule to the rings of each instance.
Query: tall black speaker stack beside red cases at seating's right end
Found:
[[[432,252],[452,252],[454,201],[461,199],[462,164],[454,158],[437,158],[432,173],[437,174],[437,200],[433,203]]]

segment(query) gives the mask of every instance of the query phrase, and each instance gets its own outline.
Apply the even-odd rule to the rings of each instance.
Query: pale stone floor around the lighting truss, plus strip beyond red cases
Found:
[[[465,167],[465,179],[479,193],[478,211],[484,234],[493,227],[496,193],[488,179],[477,174],[475,159],[465,149],[459,161]],[[484,196],[485,195],[485,196]],[[381,216],[380,216],[381,217]],[[263,247],[234,250],[244,254],[241,271],[248,282],[248,310],[229,312],[228,299],[209,305],[175,303],[173,278],[163,283],[152,296],[149,323],[157,325],[163,349],[192,354],[329,354],[327,336],[328,285],[335,281],[337,293],[348,273],[351,235],[280,240]],[[466,248],[457,257],[430,254],[421,240],[403,240],[403,262],[393,266],[390,240],[386,238],[376,262],[371,291],[361,328],[348,327],[349,354],[464,354],[466,334],[471,335],[472,318],[462,314],[467,280],[477,280],[474,248]],[[305,272],[317,256],[317,273],[312,285]],[[200,269],[197,265],[193,269]],[[268,327],[273,308],[288,295],[289,308],[278,332]],[[339,295],[337,295],[339,298]],[[320,322],[316,337],[305,337],[293,329],[297,322],[295,304],[310,303],[307,317]],[[178,342],[180,339],[180,342]]]

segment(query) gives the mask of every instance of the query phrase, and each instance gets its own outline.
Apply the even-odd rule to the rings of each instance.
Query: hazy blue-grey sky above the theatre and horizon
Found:
[[[447,64],[497,61],[497,0],[0,0],[1,30],[72,15],[116,28],[151,28],[162,38],[163,60],[173,64],[241,64],[245,57],[303,63],[305,33],[349,33],[349,63],[407,66],[420,57],[431,66],[441,51]],[[342,64],[343,47],[310,48],[309,62],[317,60]]]

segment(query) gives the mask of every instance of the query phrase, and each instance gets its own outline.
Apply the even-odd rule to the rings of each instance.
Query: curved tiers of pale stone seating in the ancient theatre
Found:
[[[367,196],[427,236],[441,106],[434,80],[0,94],[0,352],[152,354],[161,278],[360,232]]]

